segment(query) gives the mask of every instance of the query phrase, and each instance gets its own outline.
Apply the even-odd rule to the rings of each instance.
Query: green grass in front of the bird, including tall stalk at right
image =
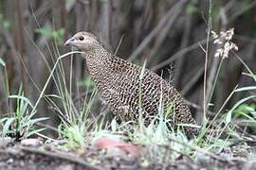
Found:
[[[211,1],[210,1],[211,10]],[[209,12],[209,20],[210,20]],[[207,118],[207,110],[211,102],[212,94],[214,93],[218,76],[221,72],[224,58],[221,59],[216,75],[214,77],[213,86],[210,90],[210,98],[206,98],[207,89],[207,69],[209,65],[209,50],[210,50],[210,21],[208,22],[208,43],[207,48],[204,49],[206,52],[205,61],[205,77],[204,77],[204,119],[201,125],[199,134],[189,139],[183,132],[182,125],[176,130],[170,126],[170,120],[167,115],[174,114],[175,100],[174,103],[170,104],[167,112],[163,112],[160,97],[160,104],[158,112],[155,115],[155,121],[149,126],[144,125],[144,118],[142,116],[142,107],[139,110],[139,119],[137,125],[125,124],[119,125],[114,118],[111,121],[104,119],[103,115],[94,117],[92,114],[92,106],[96,100],[97,92],[91,83],[88,83],[88,78],[85,83],[78,83],[76,87],[72,87],[74,81],[72,73],[73,55],[82,54],[78,51],[72,51],[64,55],[60,55],[58,48],[54,54],[51,54],[54,65],[51,68],[44,57],[46,67],[49,71],[49,76],[46,79],[46,83],[40,92],[38,99],[35,104],[32,104],[29,99],[22,92],[20,88],[19,92],[15,95],[9,94],[8,74],[6,64],[3,59],[0,59],[0,65],[5,70],[5,87],[7,96],[11,100],[16,100],[16,107],[14,112],[8,112],[8,116],[1,119],[2,123],[2,136],[8,136],[14,134],[16,140],[22,140],[28,138],[34,134],[40,134],[45,128],[36,128],[36,124],[45,121],[47,118],[35,118],[38,105],[45,99],[48,105],[54,108],[61,119],[61,123],[58,127],[59,138],[64,140],[64,149],[76,149],[78,151],[84,151],[84,147],[88,144],[93,143],[102,136],[109,136],[119,138],[132,144],[138,144],[145,148],[144,154],[140,159],[143,166],[147,166],[152,161],[157,163],[164,163],[166,161],[175,161],[181,155],[186,156],[193,161],[198,158],[198,153],[210,156],[213,159],[218,159],[224,149],[231,147],[230,145],[235,144],[236,141],[250,141],[253,142],[255,138],[252,135],[248,135],[245,131],[239,131],[239,128],[246,129],[251,128],[255,131],[256,127],[256,106],[250,104],[248,101],[255,99],[255,94],[245,96],[241,100],[237,101],[231,109],[228,111],[224,110],[226,104],[229,102],[231,96],[235,93],[252,92],[256,90],[256,86],[247,87],[236,87],[230,94],[223,106],[216,112],[212,120]],[[238,56],[236,53],[231,53],[236,57],[247,69],[245,76],[252,78],[256,83],[256,75],[247,67],[247,64]],[[57,59],[54,56],[58,56]],[[70,61],[70,73],[69,79],[66,79],[64,72],[64,64],[62,59],[71,56]],[[145,72],[144,62],[141,74],[139,76],[140,86],[142,78]],[[57,93],[46,93],[46,88],[49,85],[50,80],[53,80],[57,89]],[[83,101],[76,101],[73,97],[74,89],[79,89],[81,84],[86,88],[86,98]],[[79,90],[78,90],[79,91]],[[139,104],[142,105],[141,88],[139,88]],[[80,95],[80,93],[78,93]],[[239,120],[239,122],[237,122]],[[238,123],[243,122],[241,126]],[[184,126],[184,125],[183,125]],[[192,125],[187,125],[192,126]],[[171,128],[170,128],[171,127]],[[238,150],[243,150],[246,145],[238,146]],[[220,158],[224,159],[224,158]]]

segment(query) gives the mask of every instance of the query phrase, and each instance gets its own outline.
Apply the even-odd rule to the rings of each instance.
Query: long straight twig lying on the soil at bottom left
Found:
[[[70,155],[66,155],[66,154],[64,155],[62,153],[54,153],[54,152],[50,152],[50,151],[47,151],[47,150],[28,148],[28,147],[25,147],[25,146],[19,146],[19,148],[22,151],[25,151],[25,152],[29,152],[29,153],[33,153],[33,154],[45,155],[47,157],[51,157],[51,158],[54,158],[54,159],[70,161],[70,162],[82,165],[82,166],[84,166],[86,168],[89,168],[89,169],[96,169],[96,170],[101,170],[102,169],[99,166],[95,166],[95,165],[89,164],[86,161],[83,161],[81,158],[75,158],[75,157],[72,157]]]

